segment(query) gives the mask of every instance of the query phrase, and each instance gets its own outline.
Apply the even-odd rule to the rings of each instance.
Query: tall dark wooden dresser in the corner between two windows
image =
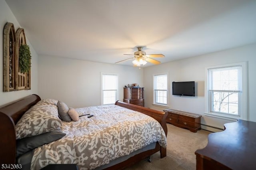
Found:
[[[124,87],[124,102],[144,107],[144,87]]]

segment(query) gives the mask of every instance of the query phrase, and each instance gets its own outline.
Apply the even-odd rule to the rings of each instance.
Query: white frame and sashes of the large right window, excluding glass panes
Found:
[[[240,76],[238,77],[238,83],[240,83],[240,90],[235,91],[238,92],[238,115],[233,115],[229,113],[221,113],[221,112],[212,112],[212,92],[210,89],[212,85],[210,70],[213,69],[222,69],[225,67],[241,67]],[[239,63],[230,63],[224,65],[216,65],[205,68],[205,115],[209,117],[216,117],[220,119],[226,119],[230,121],[237,121],[237,119],[247,120],[247,63],[239,62]],[[221,91],[221,90],[217,90]]]

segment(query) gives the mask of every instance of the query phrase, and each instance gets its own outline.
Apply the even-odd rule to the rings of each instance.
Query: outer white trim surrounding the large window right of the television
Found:
[[[221,68],[221,67],[232,67],[232,66],[242,66],[242,97],[241,101],[239,103],[240,105],[240,115],[230,115],[230,114],[225,114],[225,113],[216,113],[216,112],[210,112],[210,95],[209,95],[209,90],[208,90],[208,82],[209,78],[208,77],[208,69],[214,69],[214,68]],[[247,113],[247,62],[240,62],[240,63],[231,63],[231,64],[224,64],[224,65],[216,65],[216,66],[210,66],[205,68],[205,83],[204,83],[204,100],[205,100],[205,116],[209,117],[216,117],[219,119],[226,119],[230,121],[237,121],[237,119],[242,119],[242,120],[248,120],[248,113]]]

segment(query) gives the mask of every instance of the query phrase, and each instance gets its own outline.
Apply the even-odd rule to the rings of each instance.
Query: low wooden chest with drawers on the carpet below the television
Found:
[[[176,127],[187,128],[191,132],[197,132],[197,130],[201,129],[202,115],[174,109],[165,109],[164,112],[168,113],[166,123],[171,123]]]

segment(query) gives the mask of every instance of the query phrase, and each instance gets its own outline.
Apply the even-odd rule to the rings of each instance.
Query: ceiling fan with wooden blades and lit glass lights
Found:
[[[134,52],[134,54],[124,54],[124,55],[134,55],[134,57],[124,59],[122,61],[134,59],[134,61],[132,61],[132,63],[134,64],[134,66],[139,66],[139,67],[140,67],[140,65],[145,65],[147,63],[147,61],[150,63],[153,63],[153,64],[161,63],[160,61],[158,61],[156,59],[152,59],[151,57],[164,57],[164,55],[162,55],[162,54],[146,54],[145,51],[141,51],[142,48],[143,48],[142,46],[138,46],[137,47],[138,51]],[[120,63],[122,61],[118,61],[116,63]]]

